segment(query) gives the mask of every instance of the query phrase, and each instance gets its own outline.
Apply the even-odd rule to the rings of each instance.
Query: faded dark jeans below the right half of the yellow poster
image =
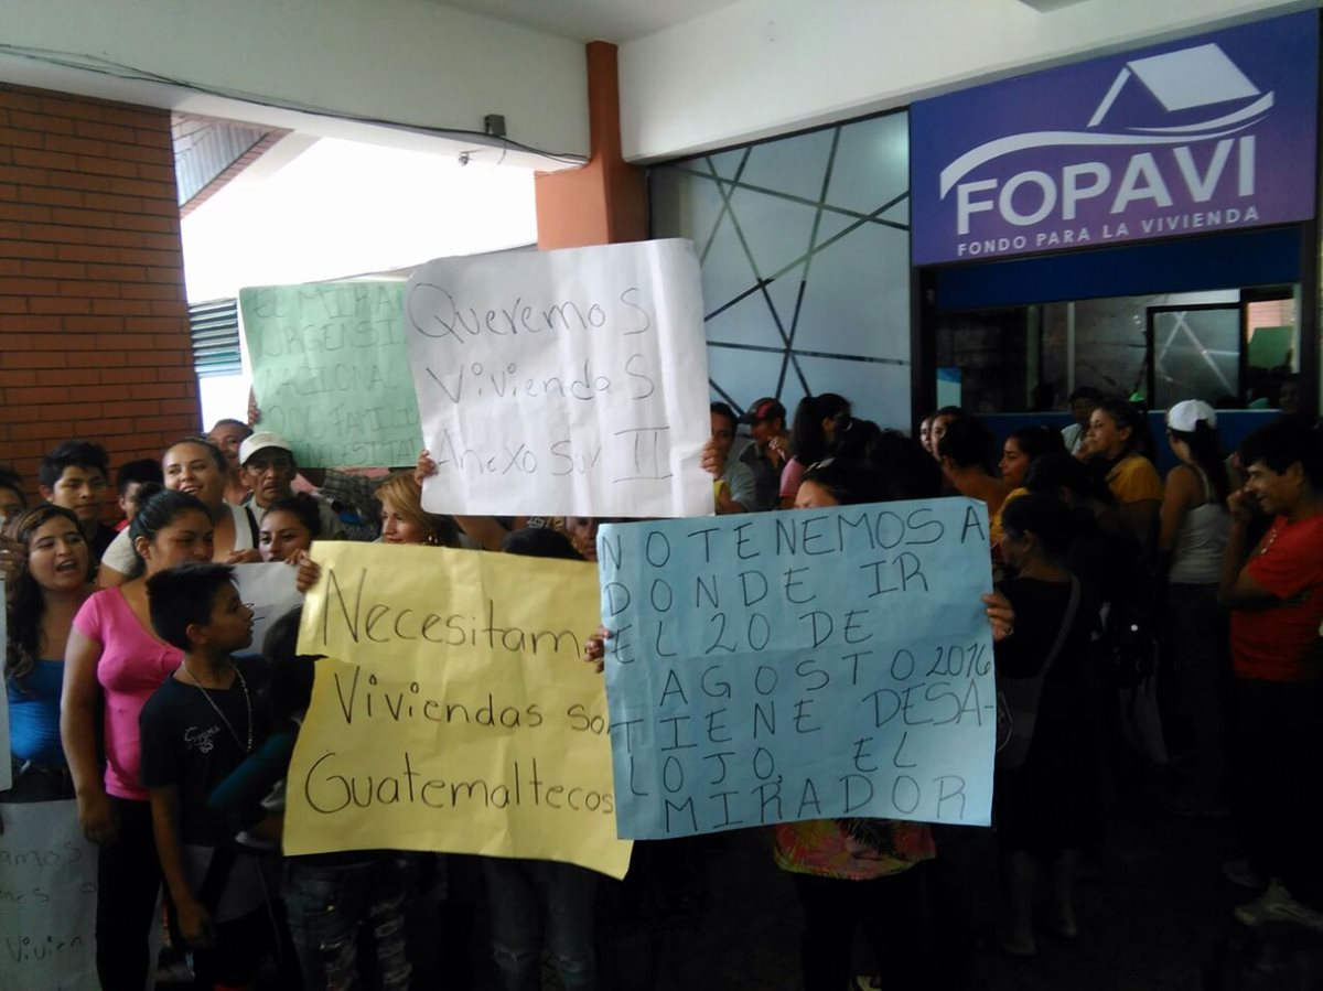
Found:
[[[597,987],[593,909],[597,875],[550,860],[484,857],[492,957],[505,991],[542,986],[542,942],[565,991]]]

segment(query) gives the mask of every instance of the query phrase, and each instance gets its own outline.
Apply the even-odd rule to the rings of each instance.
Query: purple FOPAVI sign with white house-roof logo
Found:
[[[1318,15],[916,103],[916,265],[1314,216]]]

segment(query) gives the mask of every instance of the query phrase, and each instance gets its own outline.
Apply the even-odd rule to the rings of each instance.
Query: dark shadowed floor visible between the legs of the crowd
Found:
[[[1082,937],[1073,947],[1040,939],[1039,957],[1031,961],[982,949],[991,945],[998,912],[994,839],[987,831],[968,831],[959,845],[971,864],[970,906],[979,937],[964,976],[942,975],[939,965],[951,959],[949,947],[896,947],[933,957],[933,987],[1201,988],[1218,947],[1246,937],[1230,910],[1253,893],[1236,889],[1218,871],[1232,852],[1230,824],[1166,814],[1156,779],[1122,802],[1102,857],[1081,883]],[[655,980],[648,982],[642,957],[615,947],[626,978],[620,986],[631,991],[798,988],[799,909],[792,885],[771,865],[763,843],[753,834],[730,836],[708,853],[706,873],[708,902],[696,925],[660,942]],[[885,982],[885,966],[861,963],[860,970],[880,972],[881,987],[893,987]]]

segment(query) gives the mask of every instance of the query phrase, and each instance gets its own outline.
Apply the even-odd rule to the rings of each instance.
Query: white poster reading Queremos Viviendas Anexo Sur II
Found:
[[[418,269],[405,324],[438,513],[704,516],[699,261],[644,241]]]

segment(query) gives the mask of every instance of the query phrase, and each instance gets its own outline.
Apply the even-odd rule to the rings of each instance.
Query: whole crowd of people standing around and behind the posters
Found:
[[[910,438],[832,393],[792,418],[775,397],[742,415],[713,402],[701,467],[716,513],[946,495],[987,505],[1002,859],[987,946],[1029,958],[1040,937],[1081,937],[1076,868],[1105,840],[1126,741],[1181,757],[1174,814],[1233,818],[1244,856],[1224,871],[1258,892],[1241,922],[1323,933],[1318,799],[1301,787],[1323,733],[1323,438],[1283,418],[1226,456],[1216,411],[1184,401],[1166,413],[1176,467],[1163,479],[1142,410],[1090,389],[1070,404],[1065,430],[1023,426],[998,446],[954,406]],[[701,840],[636,844],[622,884],[548,861],[401,851],[282,861],[280,785],[315,659],[296,652],[296,613],[250,643],[232,565],[283,562],[303,591],[319,581],[316,540],[595,561],[597,519],[429,513],[421,487],[434,470],[426,451],[384,476],[300,468],[284,438],[226,419],[159,462],[120,466],[123,520],[108,527],[99,445],[53,450],[32,508],[24,480],[0,468],[13,759],[0,803],[75,800],[99,851],[103,987],[146,986],[163,885],[176,955],[216,988],[251,986],[263,961],[287,987],[409,987],[422,949],[409,916],[438,890],[460,947],[451,983],[471,979],[452,934],[471,930],[483,898],[507,988],[540,984],[544,949],[565,988],[603,987],[602,931],[701,901]],[[589,638],[586,660],[601,666],[609,635]],[[898,986],[955,980],[959,953],[941,974],[896,953],[925,938],[934,900],[959,918],[975,897],[947,834],[871,819],[770,830],[803,908],[806,988],[849,986],[856,927]]]

